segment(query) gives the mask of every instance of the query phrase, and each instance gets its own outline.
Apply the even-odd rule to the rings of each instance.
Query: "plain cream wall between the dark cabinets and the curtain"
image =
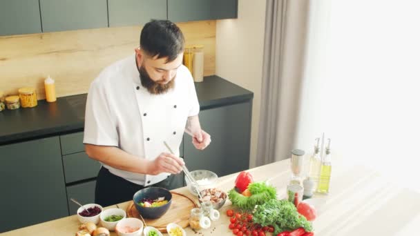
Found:
[[[216,75],[254,92],[250,166],[255,166],[260,119],[265,1],[239,0],[238,19],[216,24]]]

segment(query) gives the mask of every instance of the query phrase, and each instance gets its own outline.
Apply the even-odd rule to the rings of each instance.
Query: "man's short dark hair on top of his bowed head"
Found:
[[[151,20],[144,25],[140,34],[140,48],[151,57],[167,57],[167,63],[175,60],[184,50],[184,35],[171,21]]]

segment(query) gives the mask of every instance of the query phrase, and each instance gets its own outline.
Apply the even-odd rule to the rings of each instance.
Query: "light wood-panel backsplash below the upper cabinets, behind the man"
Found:
[[[204,75],[216,71],[216,21],[179,23],[186,44],[204,45]],[[0,37],[0,90],[26,86],[45,98],[44,79],[55,79],[57,97],[88,92],[99,72],[134,53],[142,26]]]

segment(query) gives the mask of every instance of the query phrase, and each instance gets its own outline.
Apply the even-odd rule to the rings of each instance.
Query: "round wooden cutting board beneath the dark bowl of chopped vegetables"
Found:
[[[189,214],[192,208],[196,208],[197,204],[189,197],[180,193],[172,192],[172,203],[169,210],[166,211],[162,217],[158,219],[144,219],[147,226],[153,226],[160,232],[166,233],[166,226],[169,223],[179,224],[182,228],[189,226]],[[127,217],[135,217],[142,219],[139,212],[134,206],[134,201],[131,201],[127,207]]]

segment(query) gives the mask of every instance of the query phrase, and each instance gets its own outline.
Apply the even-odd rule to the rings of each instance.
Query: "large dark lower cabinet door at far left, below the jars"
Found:
[[[68,215],[58,137],[0,146],[0,233]]]

